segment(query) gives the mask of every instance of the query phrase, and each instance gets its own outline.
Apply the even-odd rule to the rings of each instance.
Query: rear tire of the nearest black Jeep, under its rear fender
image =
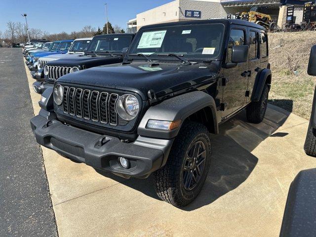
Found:
[[[246,108],[246,116],[248,122],[260,123],[265,117],[268,105],[269,87],[267,84],[263,87],[258,102],[251,102]]]

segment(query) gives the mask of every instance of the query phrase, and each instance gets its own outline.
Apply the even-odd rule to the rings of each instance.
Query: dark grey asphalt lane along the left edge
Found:
[[[0,48],[0,237],[55,237],[57,228],[21,48]]]

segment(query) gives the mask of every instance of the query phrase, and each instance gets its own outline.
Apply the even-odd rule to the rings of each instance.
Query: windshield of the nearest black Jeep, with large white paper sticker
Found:
[[[222,24],[145,29],[137,34],[130,46],[129,56],[142,53],[157,59],[157,54],[177,54],[186,59],[211,60],[220,54],[223,34]]]

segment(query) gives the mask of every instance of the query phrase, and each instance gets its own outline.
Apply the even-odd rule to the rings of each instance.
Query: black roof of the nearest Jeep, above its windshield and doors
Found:
[[[237,19],[210,19],[210,20],[168,22],[168,23],[160,23],[160,24],[143,26],[141,29],[151,29],[151,28],[156,28],[156,27],[168,27],[168,26],[179,26],[179,25],[211,24],[211,23],[222,23],[224,25],[235,24],[235,25],[241,25],[241,26],[254,27],[254,28],[266,31],[264,27],[258,24],[245,21],[245,20],[237,20]]]

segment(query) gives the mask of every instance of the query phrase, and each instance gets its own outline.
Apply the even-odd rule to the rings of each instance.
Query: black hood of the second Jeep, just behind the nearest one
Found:
[[[113,63],[121,63],[123,58],[121,56],[91,56],[91,55],[84,55],[84,56],[77,56],[77,57],[66,57],[60,58],[54,62],[47,63],[47,65],[56,65],[56,66],[79,66],[82,67],[83,65],[85,68],[100,66],[100,65],[107,65]]]

